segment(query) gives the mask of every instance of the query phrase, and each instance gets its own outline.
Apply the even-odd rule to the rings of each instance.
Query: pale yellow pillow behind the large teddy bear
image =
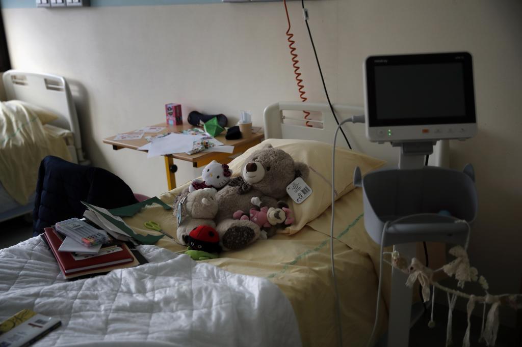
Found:
[[[301,230],[307,222],[321,215],[331,205],[331,154],[332,145],[308,140],[268,139],[249,148],[245,153],[236,157],[229,164],[234,172],[233,176],[240,176],[245,159],[268,144],[287,152],[296,162],[303,162],[310,168],[309,176],[304,180],[312,195],[301,204],[295,203],[288,197],[288,204],[295,214],[295,222],[280,232],[293,234]],[[353,187],[353,171],[356,166],[361,168],[364,175],[385,162],[355,151],[336,148],[335,155],[335,190],[336,200],[351,191]]]

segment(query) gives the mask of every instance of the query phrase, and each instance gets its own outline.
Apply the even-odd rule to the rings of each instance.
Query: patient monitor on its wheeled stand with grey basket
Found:
[[[471,55],[372,56],[364,78],[366,137],[400,146],[398,169],[362,177],[357,168],[353,179],[363,188],[366,231],[381,244],[380,292],[383,247],[394,245],[413,258],[415,242],[468,244],[478,206],[473,167],[468,164],[464,172],[425,167],[424,158],[437,140],[466,140],[477,133]],[[412,292],[406,278],[392,270],[389,346],[408,345]]]

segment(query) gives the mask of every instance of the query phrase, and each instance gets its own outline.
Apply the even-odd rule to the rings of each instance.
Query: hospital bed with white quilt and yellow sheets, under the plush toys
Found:
[[[363,113],[360,107],[335,105],[334,108],[341,119]],[[304,127],[296,121],[302,117],[302,110],[321,114],[319,127]],[[248,340],[251,345],[336,345],[328,201],[331,141],[337,125],[327,104],[280,102],[265,109],[264,126],[266,140],[235,158],[229,167],[234,176],[238,175],[246,157],[268,144],[309,165],[307,183],[314,193],[309,201],[291,206],[296,216],[294,225],[243,250],[197,263],[179,255],[184,252],[182,246],[163,238],[156,246],[138,247],[151,264],[74,282],[67,282],[61,276],[43,242],[32,238],[0,250],[0,259],[5,264],[0,268],[0,296],[4,299],[0,302],[0,320],[23,308],[60,318],[62,328],[37,345],[69,345],[79,341],[110,345],[186,345],[191,341],[196,345],[241,345],[244,342],[241,337],[248,334],[252,334]],[[334,185],[338,199],[334,252],[343,341],[345,345],[361,346],[369,339],[374,323],[379,247],[364,229],[362,191],[353,186],[353,169],[359,166],[364,174],[396,165],[398,149],[364,141],[359,125],[347,126],[345,131],[359,152],[341,148],[336,152]],[[338,144],[343,146],[341,141]],[[447,149],[447,143],[437,145],[430,162],[447,163]],[[160,199],[172,204],[187,185],[160,195]],[[176,235],[174,215],[159,205],[147,206],[125,220],[135,231],[143,233],[149,232],[144,222],[154,220],[164,231]],[[436,247],[429,247],[430,264],[437,263],[436,253]],[[191,268],[192,277],[183,278],[183,290],[171,292],[167,288],[175,288],[178,283],[177,273],[172,271],[180,266]],[[225,290],[219,291],[222,286],[205,282],[204,276],[196,274],[210,277],[219,274],[229,279]],[[253,286],[240,285],[249,281]],[[112,299],[106,300],[101,291],[112,293]],[[187,291],[191,294],[187,295]],[[385,271],[377,336],[386,331],[389,291],[390,271]],[[226,293],[248,300],[241,301],[238,295],[231,296],[229,302],[204,300],[218,300]],[[237,300],[241,301],[240,307],[234,305]],[[198,301],[209,306],[195,310]],[[185,310],[188,314],[183,314]],[[195,315],[197,312],[205,312],[206,316]],[[257,328],[248,325],[247,316]],[[223,321],[227,323],[224,326]]]

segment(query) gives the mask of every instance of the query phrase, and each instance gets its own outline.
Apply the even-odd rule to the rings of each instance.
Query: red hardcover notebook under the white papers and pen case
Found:
[[[114,253],[104,254],[97,257],[76,260],[70,252],[58,252],[62,239],[58,237],[53,228],[44,228],[44,235],[49,247],[60,266],[64,275],[72,275],[77,272],[112,267],[118,264],[126,264],[134,261],[134,257],[127,245],[122,243],[122,250]]]

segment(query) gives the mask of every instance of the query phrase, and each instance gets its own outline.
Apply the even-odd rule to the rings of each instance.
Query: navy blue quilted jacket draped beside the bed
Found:
[[[58,221],[84,214],[80,201],[116,208],[138,201],[129,186],[113,173],[46,156],[40,163],[33,210],[33,236]]]

